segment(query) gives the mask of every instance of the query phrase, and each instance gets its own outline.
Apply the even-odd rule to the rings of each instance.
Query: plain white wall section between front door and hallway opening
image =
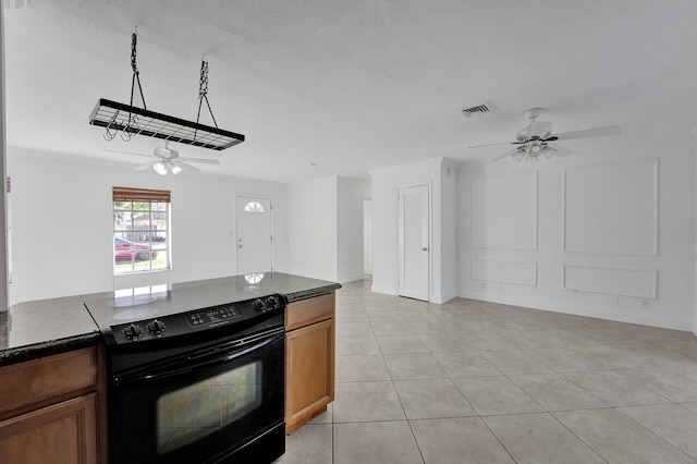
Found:
[[[337,178],[289,186],[290,271],[337,281]]]

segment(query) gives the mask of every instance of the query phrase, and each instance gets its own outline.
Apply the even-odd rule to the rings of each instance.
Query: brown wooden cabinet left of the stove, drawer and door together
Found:
[[[0,368],[1,463],[106,462],[100,353],[82,349]]]

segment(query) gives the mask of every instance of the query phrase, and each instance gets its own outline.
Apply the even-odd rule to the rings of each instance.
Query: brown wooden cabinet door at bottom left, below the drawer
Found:
[[[86,394],[0,422],[0,463],[96,463],[96,396]]]

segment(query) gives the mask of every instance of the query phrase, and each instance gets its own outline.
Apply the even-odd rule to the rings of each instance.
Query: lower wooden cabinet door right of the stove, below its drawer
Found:
[[[290,434],[334,400],[334,320],[285,334],[285,431]]]

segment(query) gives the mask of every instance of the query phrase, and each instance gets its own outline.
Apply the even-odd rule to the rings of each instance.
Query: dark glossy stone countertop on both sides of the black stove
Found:
[[[340,289],[339,283],[301,276],[265,272],[183,282],[167,285],[168,294],[197,296],[199,309],[222,302],[234,302],[280,293],[289,302]],[[121,291],[119,294],[123,294]],[[113,302],[115,292],[93,293],[41,300],[13,305],[0,313],[0,366],[51,353],[96,344],[101,334],[85,308],[89,302]],[[186,301],[186,298],[184,298]],[[193,304],[193,303],[192,303]]]

